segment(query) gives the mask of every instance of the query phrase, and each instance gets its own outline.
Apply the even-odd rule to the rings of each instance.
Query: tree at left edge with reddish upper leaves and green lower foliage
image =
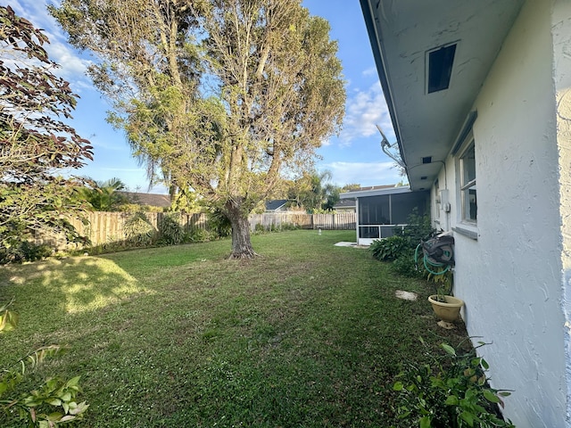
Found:
[[[10,6],[0,6],[0,251],[10,252],[31,231],[78,237],[66,216],[80,209],[77,185],[58,177],[92,159],[89,142],[62,122],[77,95],[54,75],[46,35]],[[5,257],[5,254],[4,254]]]

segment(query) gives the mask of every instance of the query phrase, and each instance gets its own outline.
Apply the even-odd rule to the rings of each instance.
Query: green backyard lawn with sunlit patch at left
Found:
[[[86,427],[400,426],[394,376],[427,358],[418,337],[438,351],[465,331],[436,325],[425,282],[334,246],[353,238],[255,235],[247,262],[223,240],[1,268],[21,318],[0,367],[69,345],[29,382],[81,374]]]

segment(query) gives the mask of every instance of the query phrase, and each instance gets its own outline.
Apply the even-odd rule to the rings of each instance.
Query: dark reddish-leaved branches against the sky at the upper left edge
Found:
[[[92,147],[59,117],[70,119],[78,95],[54,75],[41,30],[0,8],[0,174],[12,181],[49,180],[55,169],[77,169]]]

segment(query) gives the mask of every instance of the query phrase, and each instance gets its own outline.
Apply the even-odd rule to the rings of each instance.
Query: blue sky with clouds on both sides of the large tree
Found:
[[[94,146],[94,161],[72,171],[73,174],[98,181],[118,177],[132,192],[166,193],[162,186],[149,188],[145,165],[140,165],[133,158],[124,134],[106,122],[106,112],[111,106],[85,74],[87,66],[95,58],[69,45],[62,29],[46,11],[46,5],[58,4],[57,0],[12,0],[7,4],[16,14],[45,30],[51,42],[46,51],[52,61],[62,66],[57,73],[68,80],[71,89],[80,96],[73,119],[67,123]],[[330,171],[331,183],[339,186],[401,182],[403,177],[394,168],[394,162],[381,152],[381,136],[376,124],[383,129],[391,144],[395,137],[359,1],[303,0],[302,4],[310,14],[329,21],[330,38],[338,43],[337,55],[343,63],[346,81],[343,130],[318,149],[317,169],[319,172]]]

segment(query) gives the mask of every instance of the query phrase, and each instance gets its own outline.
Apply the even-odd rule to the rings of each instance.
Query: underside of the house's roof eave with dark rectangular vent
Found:
[[[524,3],[360,0],[413,190],[434,183],[447,155],[466,136],[467,122],[476,119],[470,114],[476,95]],[[430,89],[434,81],[446,87]]]

